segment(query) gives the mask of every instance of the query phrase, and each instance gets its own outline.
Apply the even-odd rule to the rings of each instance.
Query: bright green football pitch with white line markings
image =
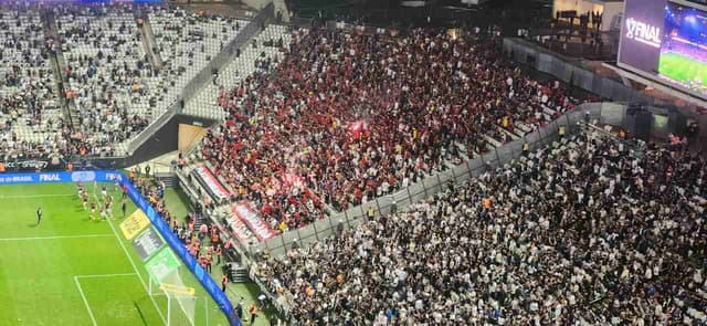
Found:
[[[109,189],[118,203],[119,192]],[[136,208],[128,203],[129,214]],[[44,215],[38,227],[40,204]],[[119,209],[114,206],[115,220],[94,222],[73,183],[1,186],[0,325],[93,325],[80,286],[96,325],[163,325],[158,311],[167,315],[166,298],[150,298],[135,274],[130,260],[149,282],[120,232]],[[186,269],[181,274],[201,297],[197,325],[228,325],[193,275]]]

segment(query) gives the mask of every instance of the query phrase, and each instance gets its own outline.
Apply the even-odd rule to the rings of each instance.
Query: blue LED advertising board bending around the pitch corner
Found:
[[[232,326],[241,326],[242,323],[233,311],[233,304],[221,292],[217,282],[211,278],[189,254],[187,248],[181,243],[177,235],[171,231],[167,222],[157,213],[155,208],[143,197],[143,194],[133,186],[128,178],[116,170],[84,170],[84,171],[55,171],[55,172],[33,172],[33,173],[0,173],[0,186],[2,185],[31,185],[31,183],[57,183],[57,182],[115,182],[127,188],[128,198],[138,207],[149,219],[150,223],[157,230],[171,250],[179,256],[182,263],[194,275],[203,288],[209,293],[213,301],[219,305],[221,312],[225,315],[229,324]]]

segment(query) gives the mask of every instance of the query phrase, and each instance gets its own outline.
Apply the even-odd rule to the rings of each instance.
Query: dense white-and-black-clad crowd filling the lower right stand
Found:
[[[260,267],[305,325],[705,325],[706,172],[583,135]]]

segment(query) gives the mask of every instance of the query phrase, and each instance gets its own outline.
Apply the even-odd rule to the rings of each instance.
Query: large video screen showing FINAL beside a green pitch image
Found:
[[[707,12],[687,1],[626,0],[619,66],[707,99]]]

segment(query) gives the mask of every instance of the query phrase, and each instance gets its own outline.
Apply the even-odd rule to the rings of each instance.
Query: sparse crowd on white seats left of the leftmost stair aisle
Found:
[[[0,161],[71,155],[76,144],[62,118],[50,53],[36,12],[8,6],[0,13]]]

